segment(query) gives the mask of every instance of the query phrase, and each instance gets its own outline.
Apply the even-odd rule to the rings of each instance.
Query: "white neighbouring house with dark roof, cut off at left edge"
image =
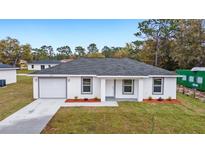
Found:
[[[11,65],[0,64],[0,80],[5,80],[6,84],[15,83],[16,69]]]

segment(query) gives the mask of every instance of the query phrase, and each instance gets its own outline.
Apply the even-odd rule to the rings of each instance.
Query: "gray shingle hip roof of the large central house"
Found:
[[[32,74],[147,76],[175,73],[129,58],[80,58]]]

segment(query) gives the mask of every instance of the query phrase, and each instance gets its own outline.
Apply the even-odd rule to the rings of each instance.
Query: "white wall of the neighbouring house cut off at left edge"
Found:
[[[5,79],[6,84],[16,83],[16,70],[0,70],[0,79]]]

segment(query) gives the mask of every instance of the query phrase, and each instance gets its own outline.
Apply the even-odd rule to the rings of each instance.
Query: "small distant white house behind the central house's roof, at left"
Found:
[[[38,60],[28,63],[28,70],[43,70],[60,64],[59,60]]]

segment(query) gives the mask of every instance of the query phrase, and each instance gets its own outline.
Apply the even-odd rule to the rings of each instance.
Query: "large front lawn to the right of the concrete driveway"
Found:
[[[177,97],[182,104],[61,108],[42,133],[205,133],[205,104],[182,94]]]

